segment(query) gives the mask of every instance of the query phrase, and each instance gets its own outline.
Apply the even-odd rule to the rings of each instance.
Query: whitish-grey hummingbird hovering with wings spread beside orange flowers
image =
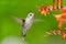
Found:
[[[30,28],[33,24],[33,21],[41,21],[41,20],[33,20],[34,18],[34,13],[29,13],[28,16],[25,19],[20,19],[16,16],[13,16],[13,19],[15,21],[18,21],[20,24],[22,24],[22,38],[24,40],[25,35],[26,35],[26,31],[30,30]]]

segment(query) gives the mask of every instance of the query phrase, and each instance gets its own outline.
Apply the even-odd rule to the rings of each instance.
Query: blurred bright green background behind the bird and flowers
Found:
[[[25,19],[29,12],[34,12],[34,19],[44,21],[32,25],[25,41],[29,44],[66,44],[66,38],[62,40],[59,35],[44,36],[46,31],[58,30],[58,22],[53,14],[62,12],[51,11],[46,16],[40,15],[35,7],[41,4],[52,6],[52,0],[0,0],[0,41],[9,35],[21,37],[21,25],[10,15]],[[63,0],[63,6],[66,6],[66,0]]]

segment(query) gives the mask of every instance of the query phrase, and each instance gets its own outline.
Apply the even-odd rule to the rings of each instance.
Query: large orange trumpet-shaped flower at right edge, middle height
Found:
[[[56,14],[55,18],[59,22],[58,23],[58,28],[62,29],[63,23],[66,22],[66,19],[65,19],[66,18],[66,13]]]

